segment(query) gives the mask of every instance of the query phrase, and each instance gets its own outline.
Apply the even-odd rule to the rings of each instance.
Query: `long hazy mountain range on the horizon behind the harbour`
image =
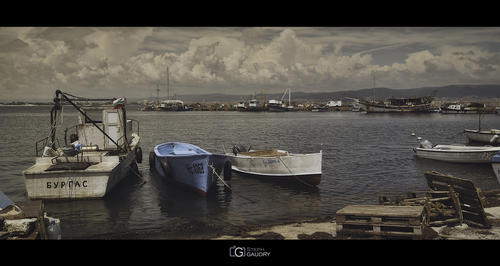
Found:
[[[410,89],[391,89],[386,87],[375,88],[376,97],[404,97],[412,94],[421,94],[432,92],[437,90],[435,98],[442,100],[500,100],[500,85],[486,84],[486,85],[447,85],[441,87],[420,87],[420,88],[410,88]],[[260,93],[260,91],[255,91]],[[265,92],[265,91],[264,91]],[[359,90],[343,90],[335,92],[302,92],[302,91],[291,91],[291,101],[295,102],[325,102],[328,100],[339,100],[343,99],[342,93],[349,93],[358,96],[373,96],[373,88],[365,88]],[[279,98],[283,96],[282,93],[269,93],[265,94],[265,100]],[[84,95],[78,95],[84,96]],[[233,95],[233,94],[222,94],[222,93],[209,93],[209,94],[187,94],[187,95],[177,95],[177,98],[186,102],[237,102],[240,99],[248,100],[250,96],[248,95]],[[135,98],[133,95],[128,95],[128,102],[142,102],[142,100],[147,99],[148,101],[156,101],[156,97],[147,98]],[[165,100],[166,97],[160,97],[160,100]],[[3,102],[12,101],[25,101],[25,102],[52,102],[52,99],[5,99],[1,100]],[[347,101],[347,100],[345,100]]]

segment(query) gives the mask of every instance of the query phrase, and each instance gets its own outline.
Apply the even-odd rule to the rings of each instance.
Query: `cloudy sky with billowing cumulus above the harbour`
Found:
[[[0,27],[0,101],[357,90],[373,76],[500,84],[500,27]]]

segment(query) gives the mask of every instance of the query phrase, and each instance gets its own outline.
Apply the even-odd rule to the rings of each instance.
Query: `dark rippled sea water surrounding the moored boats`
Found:
[[[49,133],[51,106],[0,107],[0,190],[14,202],[29,200],[21,172],[35,161],[34,143]],[[76,124],[76,110],[64,108],[63,126]],[[63,238],[90,239],[121,232],[171,229],[186,223],[212,227],[257,225],[333,216],[346,205],[377,204],[379,195],[427,190],[424,172],[472,179],[477,187],[498,187],[490,164],[421,159],[419,140],[467,144],[460,132],[476,129],[478,114],[327,112],[159,112],[127,109],[139,121],[143,161],[101,199],[46,201],[59,218]],[[486,114],[483,129],[498,128],[500,115]],[[71,131],[70,131],[71,132]],[[416,136],[411,136],[411,133]],[[64,144],[63,134],[59,142]],[[68,134],[69,138],[69,134]],[[235,144],[252,149],[323,152],[322,180],[316,187],[283,184],[232,174],[206,197],[165,182],[149,169],[157,144],[188,142],[214,153]]]

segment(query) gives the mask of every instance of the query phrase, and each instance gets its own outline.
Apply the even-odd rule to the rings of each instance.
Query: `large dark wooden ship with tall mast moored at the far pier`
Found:
[[[375,91],[375,77],[373,77],[373,91]],[[427,112],[436,93],[437,90],[434,90],[400,98],[375,97],[374,92],[373,97],[363,97],[349,93],[342,93],[342,96],[362,105],[366,112]]]

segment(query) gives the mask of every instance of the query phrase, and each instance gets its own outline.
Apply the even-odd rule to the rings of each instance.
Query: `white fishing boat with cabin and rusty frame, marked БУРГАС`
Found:
[[[36,142],[36,163],[22,172],[30,199],[99,198],[131,170],[137,172],[142,162],[139,136],[132,132],[133,120],[126,117],[124,98],[114,100],[114,107],[79,108],[66,95],[55,91],[50,134]],[[70,144],[57,147],[65,102],[79,111],[77,133],[71,134]]]

